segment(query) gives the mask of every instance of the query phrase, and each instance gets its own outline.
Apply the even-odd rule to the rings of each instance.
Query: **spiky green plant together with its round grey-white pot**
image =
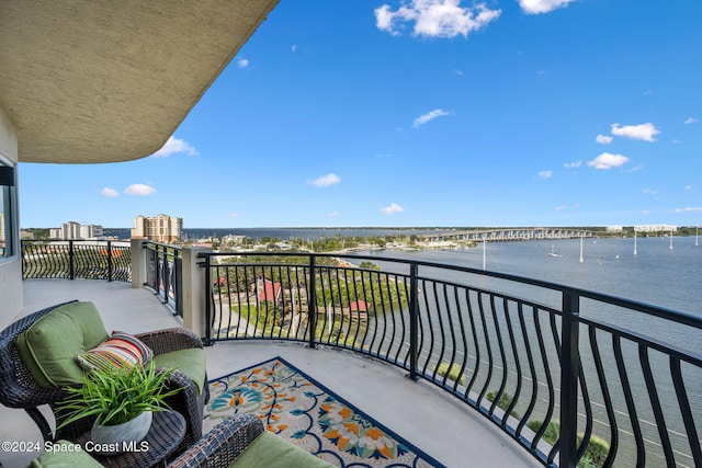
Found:
[[[91,441],[110,446],[109,452],[121,452],[124,443],[146,436],[152,412],[169,409],[166,399],[180,390],[167,388],[171,372],[157,370],[154,363],[87,372],[83,385],[69,387],[69,396],[58,404],[58,410],[66,413],[58,427],[97,416]]]

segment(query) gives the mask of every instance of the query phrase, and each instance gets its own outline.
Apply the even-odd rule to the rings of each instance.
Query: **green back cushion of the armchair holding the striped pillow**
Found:
[[[38,319],[20,333],[15,345],[22,362],[41,387],[83,381],[76,356],[109,338],[92,303],[71,303]]]

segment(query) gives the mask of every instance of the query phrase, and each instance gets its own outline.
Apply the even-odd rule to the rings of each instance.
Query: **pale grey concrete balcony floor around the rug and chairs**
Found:
[[[107,330],[143,332],[179,327],[160,298],[126,283],[30,279],[24,315],[66,300],[90,300]],[[19,318],[19,317],[18,317]],[[208,376],[218,377],[281,356],[449,467],[542,466],[475,410],[406,372],[351,352],[281,342],[226,342],[207,347]],[[0,406],[0,440],[41,442],[22,410]],[[0,463],[23,467],[37,454],[0,452]]]

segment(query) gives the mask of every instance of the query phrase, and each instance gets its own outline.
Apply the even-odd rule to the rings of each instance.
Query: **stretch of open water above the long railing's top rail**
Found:
[[[559,256],[550,255],[553,251]],[[393,256],[509,273],[702,316],[702,246],[694,237],[488,242],[465,250],[374,251]]]

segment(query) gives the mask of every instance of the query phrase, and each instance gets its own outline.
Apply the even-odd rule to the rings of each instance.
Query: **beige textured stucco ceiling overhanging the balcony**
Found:
[[[157,151],[279,0],[0,0],[21,162]]]

